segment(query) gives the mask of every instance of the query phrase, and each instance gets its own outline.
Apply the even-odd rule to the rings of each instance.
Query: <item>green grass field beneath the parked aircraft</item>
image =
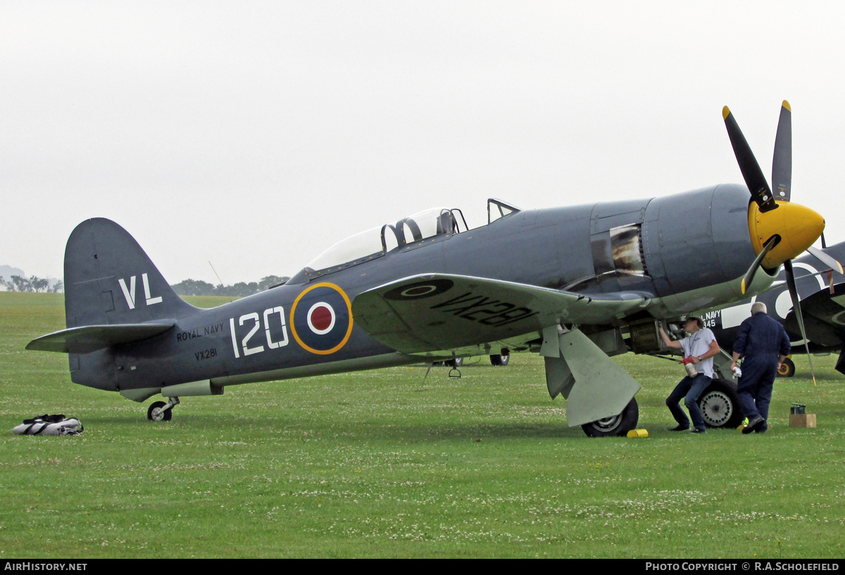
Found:
[[[186,298],[188,299],[188,298]],[[213,306],[214,298],[193,300]],[[461,379],[404,367],[186,398],[173,420],[25,351],[63,296],[0,293],[0,557],[842,557],[845,377],[776,382],[765,436],[665,431],[679,366],[617,358],[643,439],[590,439],[537,355]],[[470,363],[470,362],[467,362]],[[807,404],[818,428],[788,427]],[[16,437],[79,417],[79,437]]]

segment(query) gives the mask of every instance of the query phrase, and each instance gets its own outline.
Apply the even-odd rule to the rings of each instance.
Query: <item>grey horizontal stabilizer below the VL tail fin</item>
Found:
[[[163,334],[176,325],[175,321],[155,323],[118,323],[117,325],[86,325],[42,335],[26,345],[27,350],[59,351],[66,354],[89,354],[117,344],[151,338]]]

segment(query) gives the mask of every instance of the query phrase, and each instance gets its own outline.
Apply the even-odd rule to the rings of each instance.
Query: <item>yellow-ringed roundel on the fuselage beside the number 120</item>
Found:
[[[297,344],[313,354],[340,350],[352,334],[352,303],[330,283],[303,290],[291,306],[291,332]]]

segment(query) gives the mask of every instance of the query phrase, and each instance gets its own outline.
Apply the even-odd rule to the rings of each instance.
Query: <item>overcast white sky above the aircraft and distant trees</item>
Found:
[[[0,264],[123,225],[171,283],[289,275],[433,206],[766,176],[845,240],[845,3],[0,2]]]

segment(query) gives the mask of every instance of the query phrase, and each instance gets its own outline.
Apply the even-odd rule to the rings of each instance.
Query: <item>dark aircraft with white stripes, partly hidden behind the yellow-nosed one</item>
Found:
[[[826,247],[822,251],[842,261],[845,259],[845,242]],[[842,345],[845,344],[845,275],[839,269],[819,266],[815,256],[810,255],[797,258],[793,262],[793,269],[797,270],[795,285],[801,298],[807,349],[812,354],[840,352],[836,369],[845,373],[845,348]],[[702,314],[702,320],[716,335],[722,349],[728,352],[733,349],[733,341],[739,333],[739,324],[749,317],[751,304],[762,301],[769,310],[769,316],[777,319],[786,328],[792,339],[793,353],[804,351],[805,342],[786,283],[786,274],[781,272],[772,287],[760,295],[721,310]],[[782,364],[780,375],[792,377],[794,373],[795,364],[787,359]]]

